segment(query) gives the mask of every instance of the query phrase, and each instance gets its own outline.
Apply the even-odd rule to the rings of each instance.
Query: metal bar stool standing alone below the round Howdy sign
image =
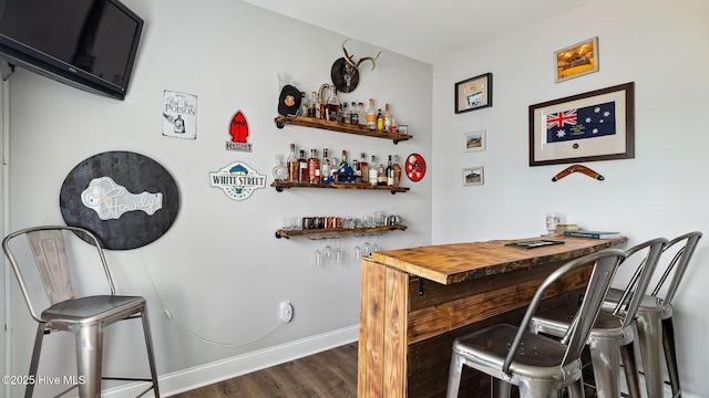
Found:
[[[70,262],[66,256],[66,248],[64,245],[64,231],[72,231],[76,234],[89,237],[96,247],[99,259],[103,265],[107,285],[111,289],[110,295],[92,295],[84,297],[75,297],[74,289],[71,284]],[[18,237],[27,237],[27,244],[22,247]],[[2,250],[10,260],[12,270],[18,279],[22,295],[30,310],[32,317],[39,323],[37,328],[37,337],[34,339],[34,348],[32,350],[32,360],[30,363],[29,376],[35,379],[37,370],[40,362],[40,352],[42,349],[42,341],[45,334],[51,332],[63,331],[72,332],[76,341],[76,365],[78,380],[82,381],[69,389],[62,391],[56,397],[62,396],[74,388],[79,388],[81,398],[94,398],[101,396],[101,380],[109,377],[102,377],[102,356],[103,356],[103,329],[117,321],[141,318],[143,323],[143,334],[145,337],[145,347],[147,350],[147,359],[150,365],[151,378],[116,378],[117,380],[138,380],[148,381],[147,387],[138,397],[142,397],[151,389],[155,397],[160,397],[157,387],[157,373],[155,370],[155,359],[153,354],[153,343],[151,337],[151,328],[147,317],[147,306],[145,298],[140,296],[115,295],[115,287],[109,271],[103,250],[99,239],[90,231],[83,228],[64,227],[64,226],[47,226],[27,228],[10,233],[2,240]],[[31,251],[33,255],[25,255],[25,251]],[[16,256],[14,252],[18,253]],[[20,255],[20,252],[22,255]],[[38,310],[38,304],[33,296],[33,292],[28,289],[25,277],[20,271],[18,258],[27,259],[33,256],[37,271],[34,275],[41,279],[44,285],[44,292],[49,298],[49,307],[43,311]],[[99,261],[96,261],[99,262]],[[25,271],[29,271],[29,264]],[[79,271],[74,269],[74,271]],[[39,275],[38,275],[39,274]],[[28,274],[29,275],[29,274]],[[34,297],[39,298],[39,297]],[[34,386],[27,386],[24,396],[32,397]]]

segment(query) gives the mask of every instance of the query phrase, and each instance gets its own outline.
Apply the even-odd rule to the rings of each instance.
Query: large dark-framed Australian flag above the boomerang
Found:
[[[635,157],[635,84],[530,106],[530,166]]]

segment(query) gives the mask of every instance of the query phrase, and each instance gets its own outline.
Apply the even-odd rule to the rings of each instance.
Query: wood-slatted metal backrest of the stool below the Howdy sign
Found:
[[[2,240],[2,250],[10,260],[10,264],[18,279],[20,290],[22,291],[24,301],[30,308],[30,313],[32,317],[38,322],[43,322],[41,318],[41,313],[44,308],[39,308],[38,303],[32,300],[32,294],[30,292],[30,289],[28,287],[28,283],[25,282],[20,263],[18,261],[19,255],[16,255],[16,253],[13,253],[13,249],[10,242],[18,237],[27,237],[32,251],[32,256],[42,280],[42,284],[44,286],[44,292],[47,293],[51,306],[75,298],[71,283],[71,273],[69,270],[70,263],[66,258],[66,247],[64,244],[63,238],[63,231],[65,230],[83,233],[94,242],[94,245],[99,251],[99,258],[101,259],[101,262],[103,264],[103,271],[107,279],[111,294],[115,295],[115,287],[113,285],[113,280],[111,279],[111,273],[109,271],[109,265],[103,254],[103,250],[101,249],[101,243],[99,239],[90,231],[78,227],[42,226],[25,228],[12,232]]]

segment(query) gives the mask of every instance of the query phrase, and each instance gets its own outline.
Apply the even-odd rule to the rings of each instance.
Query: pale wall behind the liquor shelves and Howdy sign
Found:
[[[411,191],[394,196],[317,189],[278,193],[268,187],[237,202],[209,187],[208,172],[240,160],[267,174],[270,184],[274,156],[287,154],[290,143],[305,149],[327,146],[331,154],[364,151],[380,159],[411,153],[429,158],[432,66],[384,50],[377,69],[371,71],[364,64],[360,86],[341,96],[358,102],[373,97],[382,107],[384,102],[391,103],[394,117],[408,124],[414,136],[410,142],[394,146],[391,140],[301,127],[281,130],[274,124],[277,74],[290,74],[304,91],[317,90],[330,80],[330,65],[342,56],[340,44],[346,38],[238,0],[125,3],[145,20],[145,28],[124,102],[23,70],[11,76],[11,230],[63,223],[59,191],[75,165],[103,151],[136,151],[162,164],[175,178],[179,213],[160,240],[137,250],[109,252],[107,260],[120,293],[148,300],[165,395],[232,376],[226,374],[232,370],[219,367],[234,358],[249,358],[244,360],[247,368],[234,370],[246,371],[268,365],[265,360],[284,362],[308,354],[307,349],[357,339],[359,262],[348,255],[342,265],[316,268],[314,241],[277,240],[274,232],[282,217],[360,217],[383,210],[401,214],[409,226],[405,232],[379,238],[383,249],[428,244],[431,177],[418,184],[404,178]],[[348,42],[349,53],[358,57],[376,55],[379,50]],[[197,95],[196,140],[162,135],[164,90]],[[250,154],[225,150],[230,139],[229,121],[239,109],[249,123]],[[348,254],[356,242],[353,238],[343,240]],[[175,320],[204,338],[227,345],[203,343],[171,323],[153,284]],[[13,287],[17,290],[14,282]],[[235,346],[277,325],[278,305],[284,300],[295,306],[290,324]],[[29,366],[35,326],[18,294],[12,311],[12,367],[8,374],[21,375]],[[117,327],[107,338],[124,348],[106,352],[106,369],[113,374],[145,369],[137,328]],[[73,374],[72,360],[65,362],[74,355],[71,336],[50,336],[44,350],[42,374]],[[267,359],[251,357],[265,352]],[[207,365],[209,368],[201,368]],[[194,369],[202,371],[198,377],[194,377]],[[49,387],[39,388],[40,395],[50,394]],[[19,389],[13,391],[12,396],[20,394]]]

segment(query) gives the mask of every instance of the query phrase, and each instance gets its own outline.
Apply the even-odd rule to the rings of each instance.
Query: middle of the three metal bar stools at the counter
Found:
[[[620,358],[623,358],[628,392],[630,397],[640,398],[633,346],[637,334],[635,314],[650,284],[650,277],[665,244],[667,239],[658,238],[635,245],[625,252],[626,260],[623,264],[630,263],[635,259],[639,260],[635,275],[623,292],[623,300],[617,303],[613,312],[602,311],[590,331],[586,344],[590,352],[598,398],[620,397]],[[640,255],[643,255],[641,260]],[[545,333],[563,337],[576,311],[577,305],[571,303],[561,303],[540,311],[530,322],[530,329],[537,334]]]

